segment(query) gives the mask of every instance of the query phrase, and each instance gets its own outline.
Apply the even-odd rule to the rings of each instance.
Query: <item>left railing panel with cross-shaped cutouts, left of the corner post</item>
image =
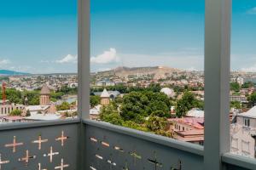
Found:
[[[78,169],[78,120],[0,127],[0,169]]]

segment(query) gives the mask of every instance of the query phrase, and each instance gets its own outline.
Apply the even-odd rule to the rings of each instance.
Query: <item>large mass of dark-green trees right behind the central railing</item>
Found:
[[[170,101],[166,94],[152,91],[131,92],[123,99],[102,106],[100,118],[104,122],[149,131],[165,136]]]

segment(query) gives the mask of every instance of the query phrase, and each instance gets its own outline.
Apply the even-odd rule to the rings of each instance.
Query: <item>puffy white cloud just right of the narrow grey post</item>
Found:
[[[90,58],[90,62],[93,64],[109,64],[118,61],[119,59],[115,48],[110,48],[108,51],[104,51],[103,54]]]

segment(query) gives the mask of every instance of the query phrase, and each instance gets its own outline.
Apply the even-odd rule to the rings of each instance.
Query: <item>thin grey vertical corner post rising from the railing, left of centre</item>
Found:
[[[90,0],[79,1],[79,116],[90,118]]]

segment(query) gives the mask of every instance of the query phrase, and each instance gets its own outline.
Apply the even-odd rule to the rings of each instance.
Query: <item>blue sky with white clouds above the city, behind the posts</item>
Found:
[[[75,0],[3,0],[0,69],[77,72]],[[92,0],[90,70],[203,70],[203,0]],[[256,71],[256,1],[233,0],[231,67]]]

